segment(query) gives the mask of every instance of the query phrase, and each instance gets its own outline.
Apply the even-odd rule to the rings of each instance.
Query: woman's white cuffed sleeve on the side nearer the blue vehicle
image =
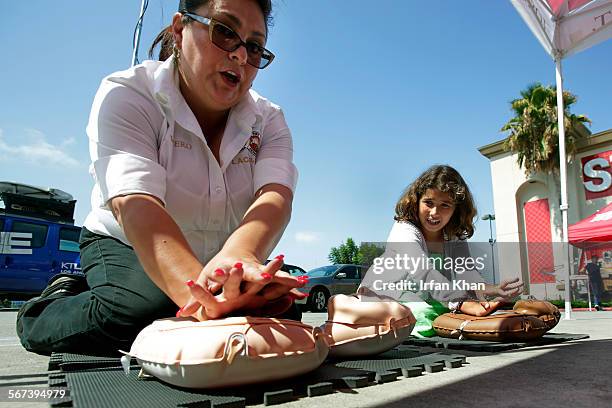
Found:
[[[102,81],[87,135],[90,172],[107,206],[113,197],[136,193],[165,202],[166,170],[159,164],[157,142],[163,123],[159,108],[146,94]]]

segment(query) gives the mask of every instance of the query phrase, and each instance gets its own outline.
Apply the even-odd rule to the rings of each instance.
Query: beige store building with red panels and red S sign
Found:
[[[528,294],[538,299],[564,297],[564,262],[559,176],[526,175],[504,140],[478,150],[490,160],[499,259],[499,278],[520,271]],[[568,222],[574,224],[612,202],[612,129],[583,138],[567,165]],[[610,254],[612,255],[612,254]],[[586,293],[578,273],[582,253],[573,250],[570,271],[576,293]],[[612,283],[612,256],[604,257],[604,284]]]

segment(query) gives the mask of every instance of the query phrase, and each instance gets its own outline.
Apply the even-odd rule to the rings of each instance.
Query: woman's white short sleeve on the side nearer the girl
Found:
[[[280,108],[267,118],[253,175],[254,192],[266,184],[281,184],[295,192],[298,171],[293,164],[293,140]]]

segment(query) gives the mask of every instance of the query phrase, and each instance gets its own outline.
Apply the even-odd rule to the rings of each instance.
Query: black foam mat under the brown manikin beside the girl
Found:
[[[546,333],[541,338],[532,341],[500,343],[495,341],[459,340],[434,336],[427,338],[410,337],[410,339],[405,341],[403,344],[454,350],[498,352],[588,338],[588,334]]]

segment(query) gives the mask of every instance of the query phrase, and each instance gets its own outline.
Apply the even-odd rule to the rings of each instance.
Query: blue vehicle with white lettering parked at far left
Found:
[[[14,192],[10,192],[12,191]],[[58,273],[81,274],[74,201],[59,190],[0,182],[0,295],[40,294]],[[41,198],[59,197],[60,199]]]

